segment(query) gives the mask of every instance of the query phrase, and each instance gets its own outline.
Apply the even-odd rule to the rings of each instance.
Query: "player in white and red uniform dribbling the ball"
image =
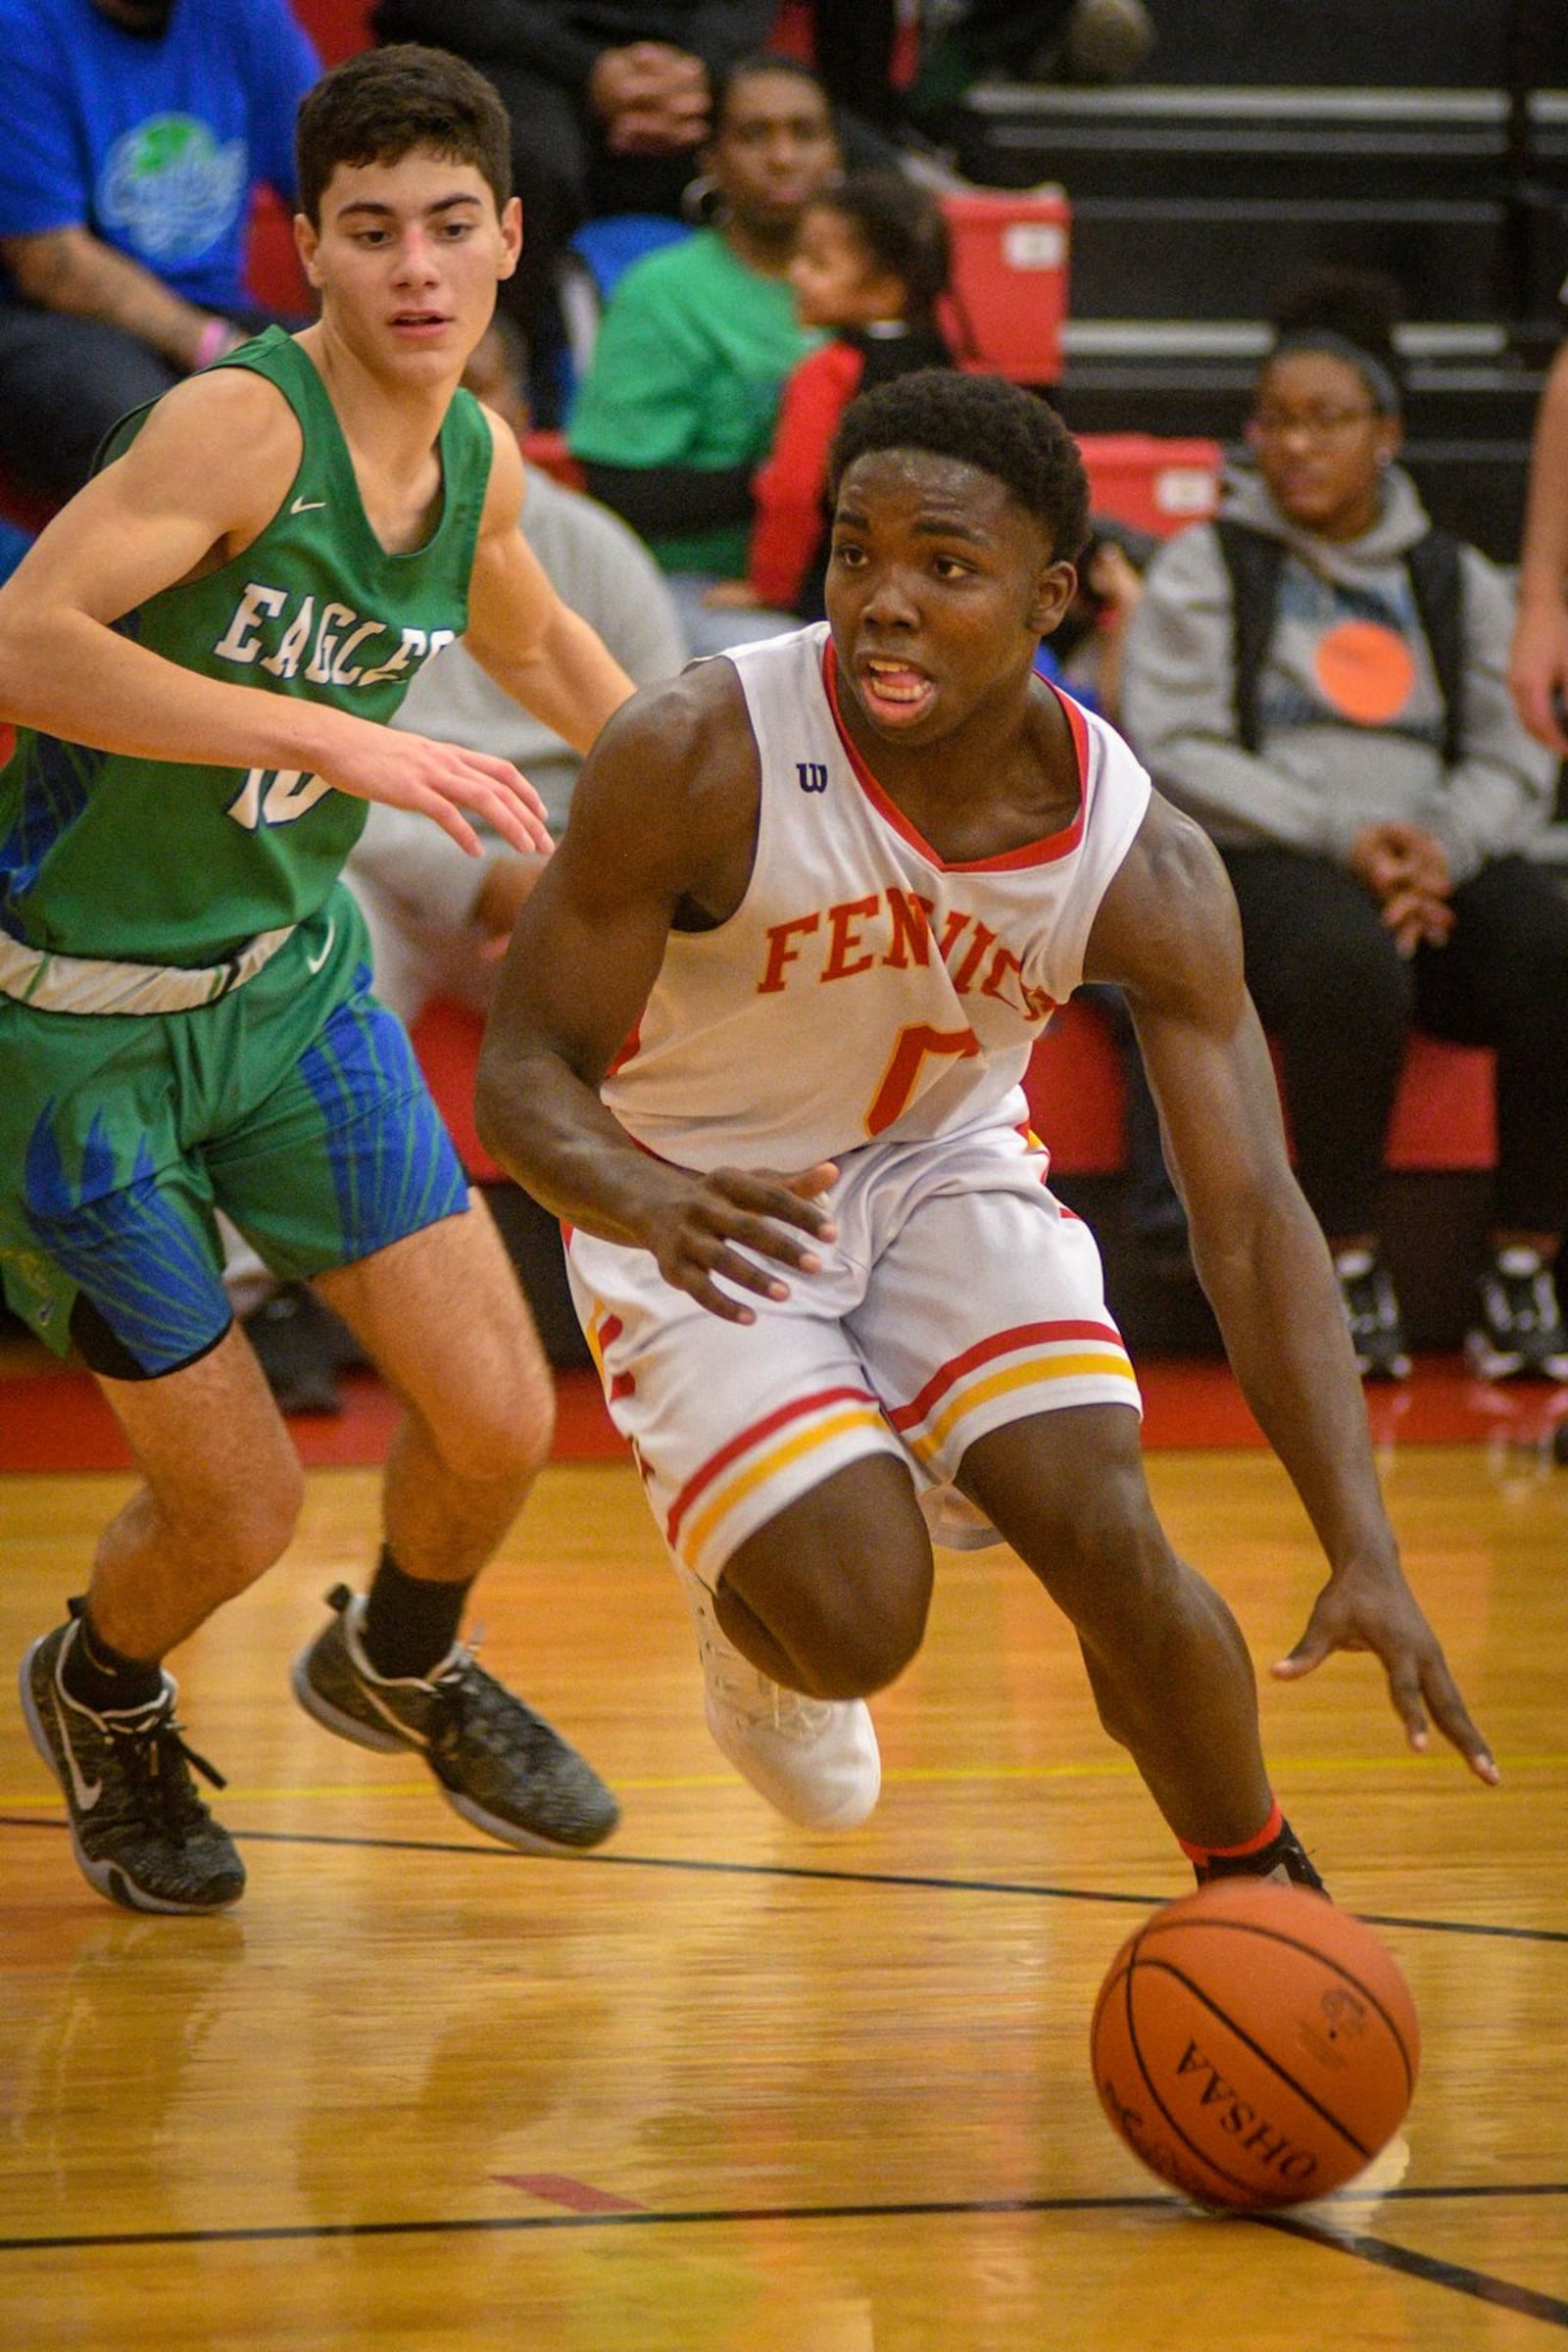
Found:
[[[1434,1719],[1495,1780],[1399,1569],[1225,873],[1032,675],[1086,527],[1044,402],[907,376],[846,412],[835,485],[827,626],[599,739],[503,974],[482,1134],[574,1228],[708,1722],[780,1811],[865,1818],[865,1696],[919,1646],[929,1526],[999,1534],[1199,1879],[1319,1884],[1241,1632],[1154,1519],[1098,1254],[1020,1089],[1079,981],[1126,990],[1232,1364],[1331,1562],[1276,1672],[1371,1649],[1410,1745]]]

